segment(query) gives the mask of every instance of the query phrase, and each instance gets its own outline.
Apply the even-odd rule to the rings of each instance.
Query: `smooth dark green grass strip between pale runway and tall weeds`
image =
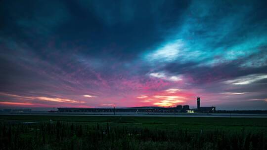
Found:
[[[267,133],[267,118],[223,118],[223,117],[136,117],[136,116],[57,116],[57,115],[0,115],[0,122],[49,122],[94,126],[96,124],[129,128],[154,128],[161,130],[229,130]]]

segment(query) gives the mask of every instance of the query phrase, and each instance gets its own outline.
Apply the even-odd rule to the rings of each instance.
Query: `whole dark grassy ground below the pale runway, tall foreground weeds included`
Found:
[[[0,117],[1,150],[267,150],[265,118]]]

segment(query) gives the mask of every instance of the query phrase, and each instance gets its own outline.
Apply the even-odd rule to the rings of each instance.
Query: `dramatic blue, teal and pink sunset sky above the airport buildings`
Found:
[[[267,110],[266,0],[2,0],[0,108]]]

